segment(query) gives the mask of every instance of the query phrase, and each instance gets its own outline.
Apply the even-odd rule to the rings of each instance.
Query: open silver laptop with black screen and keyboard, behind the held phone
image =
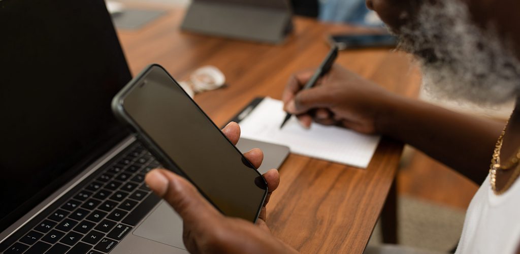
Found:
[[[3,0],[0,23],[0,252],[186,253],[110,110],[132,77],[105,3]]]

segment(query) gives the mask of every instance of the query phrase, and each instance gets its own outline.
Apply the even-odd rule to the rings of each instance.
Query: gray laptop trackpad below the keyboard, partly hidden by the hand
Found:
[[[133,233],[155,242],[186,249],[183,243],[183,220],[166,202],[155,209]]]

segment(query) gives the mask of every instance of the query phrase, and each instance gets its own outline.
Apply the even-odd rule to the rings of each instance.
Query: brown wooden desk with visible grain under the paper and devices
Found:
[[[183,9],[138,31],[119,36],[132,72],[148,63],[164,66],[177,80],[214,65],[226,88],[195,97],[222,125],[257,96],[280,99],[291,73],[316,67],[327,54],[325,36],[355,28],[295,18],[295,32],[282,45],[267,45],[179,31]],[[337,63],[407,96],[417,94],[419,75],[408,57],[389,50],[341,52]],[[368,169],[290,155],[279,169],[281,184],[268,205],[274,235],[306,253],[362,253],[396,175],[402,144],[383,139]]]

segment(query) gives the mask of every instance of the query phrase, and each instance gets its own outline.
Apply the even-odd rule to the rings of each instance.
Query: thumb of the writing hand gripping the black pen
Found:
[[[323,86],[302,90],[289,101],[287,110],[289,113],[300,115],[313,108],[326,108],[330,104],[330,95]]]

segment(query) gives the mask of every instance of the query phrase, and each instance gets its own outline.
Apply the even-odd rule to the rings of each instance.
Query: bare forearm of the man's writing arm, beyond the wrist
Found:
[[[503,122],[402,97],[389,105],[376,124],[380,133],[418,148],[477,184],[484,181]]]

